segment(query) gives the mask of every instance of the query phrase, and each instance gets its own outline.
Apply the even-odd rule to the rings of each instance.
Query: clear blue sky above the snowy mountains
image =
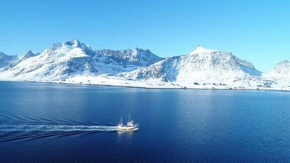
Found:
[[[200,44],[264,72],[290,59],[290,1],[1,1],[0,22],[0,51],[10,55],[78,38],[162,57]]]

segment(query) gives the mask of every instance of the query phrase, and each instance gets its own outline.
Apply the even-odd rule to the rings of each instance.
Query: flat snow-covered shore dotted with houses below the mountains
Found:
[[[58,84],[76,84],[76,85],[102,85],[118,86],[144,89],[201,89],[201,90],[275,90],[290,91],[290,83],[274,83],[263,85],[260,80],[244,78],[234,82],[233,79],[204,82],[162,82],[159,80],[127,80],[116,76],[76,76],[62,80],[6,80],[15,82],[41,82],[41,83],[58,83]],[[249,82],[249,80],[251,82]],[[248,83],[248,85],[245,85]],[[268,87],[267,87],[268,86]]]

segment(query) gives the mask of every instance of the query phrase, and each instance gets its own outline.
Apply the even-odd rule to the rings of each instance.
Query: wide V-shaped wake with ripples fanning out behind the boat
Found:
[[[118,127],[112,124],[23,117],[0,116],[0,123],[6,123],[5,125],[0,125],[0,141],[118,131]]]

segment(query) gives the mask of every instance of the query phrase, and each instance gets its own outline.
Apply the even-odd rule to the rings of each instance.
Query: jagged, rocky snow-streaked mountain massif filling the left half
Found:
[[[0,70],[0,79],[53,80],[78,75],[127,72],[163,58],[149,50],[97,50],[77,39],[55,43],[41,54],[30,51]]]

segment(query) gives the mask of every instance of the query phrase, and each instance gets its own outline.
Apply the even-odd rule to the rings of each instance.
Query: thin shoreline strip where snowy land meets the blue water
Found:
[[[102,85],[102,84],[78,84],[78,83],[62,83],[62,82],[43,82],[43,81],[31,81],[31,80],[0,80],[0,82],[27,82],[27,83],[43,83],[43,84],[65,84],[65,85],[93,85],[93,86],[107,86],[107,87],[126,87],[126,88],[139,88],[139,89],[157,89],[157,90],[225,90],[225,91],[283,91],[290,92],[290,90],[275,90],[275,89],[210,89],[210,88],[149,88],[149,87],[137,87],[137,86],[120,86],[120,85]]]

